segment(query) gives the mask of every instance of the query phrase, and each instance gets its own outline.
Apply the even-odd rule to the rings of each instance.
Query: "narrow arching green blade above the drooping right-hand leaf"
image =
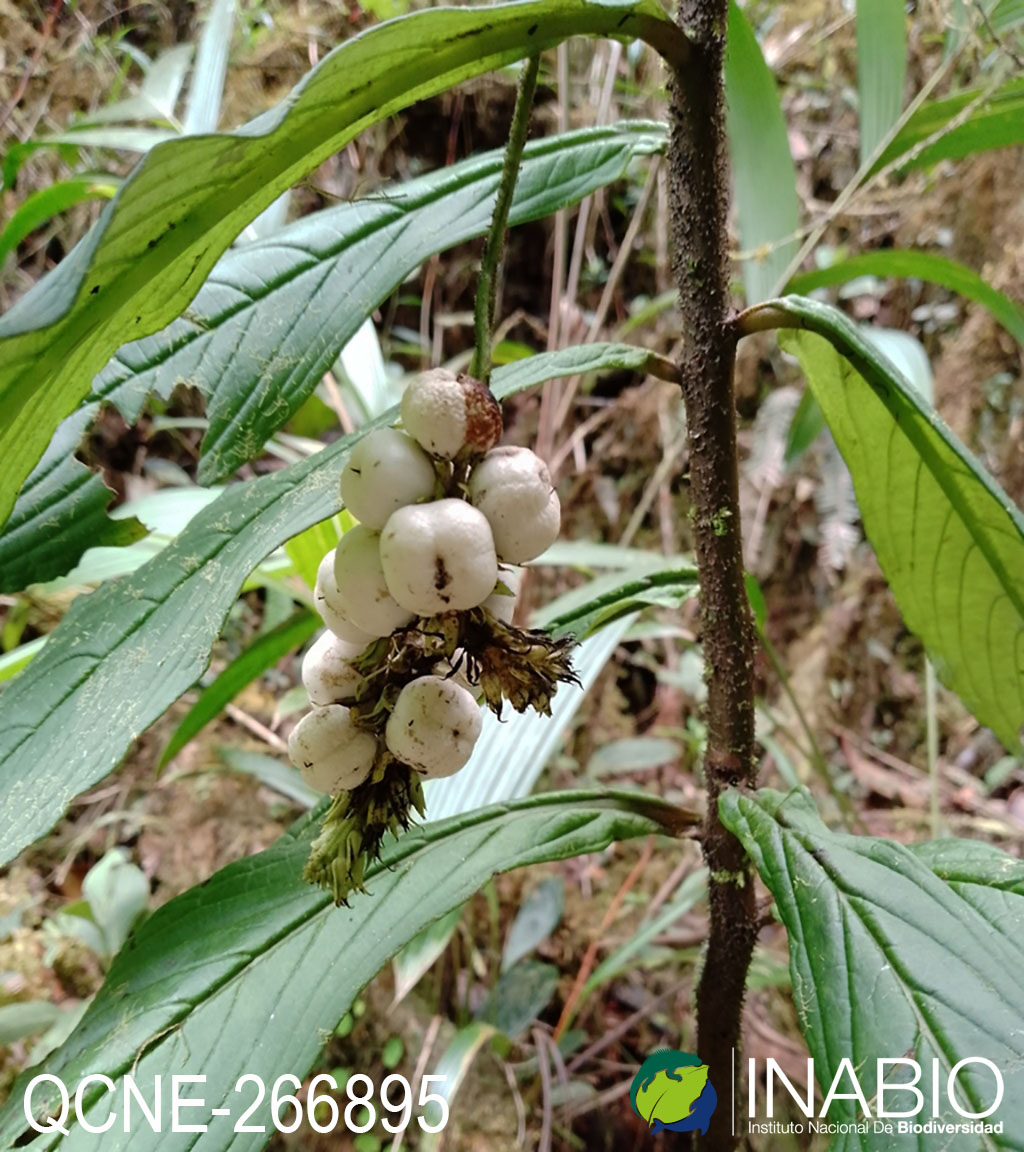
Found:
[[[898,248],[886,249],[883,252],[862,252],[859,256],[836,260],[828,267],[794,276],[786,287],[788,291],[805,295],[816,288],[847,283],[864,275],[913,276],[928,283],[941,285],[987,308],[1007,332],[1018,343],[1024,344],[1024,310],[1009,296],[993,288],[977,272],[933,252]]]

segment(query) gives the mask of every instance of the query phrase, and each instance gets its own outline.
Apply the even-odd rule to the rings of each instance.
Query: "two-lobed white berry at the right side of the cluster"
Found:
[[[547,464],[529,448],[494,448],[472,470],[469,498],[487,517],[500,560],[533,560],[557,539],[562,510]]]

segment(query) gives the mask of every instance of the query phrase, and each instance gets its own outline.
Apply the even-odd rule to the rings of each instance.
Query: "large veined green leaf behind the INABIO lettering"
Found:
[[[927,1091],[935,1059],[941,1121],[962,1123],[946,1098],[947,1077],[958,1060],[984,1056],[1003,1077],[1002,1105],[989,1117],[1003,1122],[1003,1134],[935,1139],[951,1152],[1024,1149],[1024,896],[1015,888],[1024,865],[1002,856],[1009,884],[989,886],[986,870],[995,862],[977,861],[973,848],[957,863],[948,844],[921,851],[834,834],[805,791],[729,791],[719,810],[772,890],[789,934],[794,1001],[822,1090],[845,1058],[865,1070],[864,1090],[873,1100],[875,1061],[909,1056],[926,1069]],[[926,863],[930,856],[939,876]],[[943,870],[958,879],[947,882]],[[897,1077],[890,1071],[888,1078],[895,1084]],[[962,1107],[981,1112],[992,1104],[991,1071],[968,1064],[957,1084]],[[841,1091],[850,1091],[848,1076],[843,1085]],[[892,1109],[913,1106],[895,1089],[886,1102]],[[827,1119],[850,1122],[857,1112],[857,1101],[837,1099]],[[926,1119],[931,1106],[920,1117]],[[874,1152],[877,1139],[850,1134],[830,1146]],[[918,1152],[921,1140],[910,1134],[885,1137],[892,1152]]]

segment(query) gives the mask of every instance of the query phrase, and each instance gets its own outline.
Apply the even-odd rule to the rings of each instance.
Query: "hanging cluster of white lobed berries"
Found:
[[[316,604],[327,626],[302,665],[313,711],[288,742],[293,764],[319,791],[365,783],[392,760],[422,778],[448,776],[470,758],[481,718],[460,650],[427,666],[392,698],[370,665],[412,643],[411,630],[445,613],[483,608],[511,622],[519,569],[559,535],[551,475],[528,448],[495,447],[501,410],[479,381],[443,370],[402,397],[402,424],[352,449],[341,497],[359,522],[320,563]],[[471,664],[471,661],[467,661]],[[374,776],[376,779],[376,776]]]

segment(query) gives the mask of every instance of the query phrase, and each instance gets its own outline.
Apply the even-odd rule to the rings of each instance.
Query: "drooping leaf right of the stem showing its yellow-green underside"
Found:
[[[940,677],[1009,749],[1024,719],[1024,516],[842,313],[766,305],[854,477],[867,536]],[[817,335],[814,334],[817,333]]]

